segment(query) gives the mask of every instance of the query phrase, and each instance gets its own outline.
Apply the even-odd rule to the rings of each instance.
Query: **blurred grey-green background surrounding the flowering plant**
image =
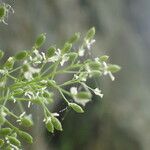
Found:
[[[93,98],[85,114],[69,112],[62,133],[41,124],[28,150],[150,149],[150,1],[149,0],[3,0],[15,10],[0,24],[0,49],[12,55],[30,49],[38,34],[59,46],[74,32],[95,26],[93,55],[105,53],[122,67],[116,81],[100,82],[103,99]],[[57,108],[56,108],[57,109]],[[55,108],[54,108],[55,110]]]

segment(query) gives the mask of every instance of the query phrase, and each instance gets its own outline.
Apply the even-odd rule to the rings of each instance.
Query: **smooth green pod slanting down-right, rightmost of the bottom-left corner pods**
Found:
[[[27,143],[32,144],[33,143],[33,138],[30,134],[28,134],[27,132],[24,131],[19,131],[18,135],[25,140]]]

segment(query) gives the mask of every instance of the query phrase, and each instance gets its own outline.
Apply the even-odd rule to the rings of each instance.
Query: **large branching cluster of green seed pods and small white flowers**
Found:
[[[22,131],[20,126],[33,125],[32,114],[27,114],[22,105],[27,102],[27,108],[39,105],[43,110],[43,122],[51,133],[54,130],[62,131],[58,113],[52,113],[48,106],[54,100],[54,90],[57,90],[64,99],[66,106],[77,113],[83,113],[83,107],[92,99],[92,92],[103,97],[98,87],[91,88],[86,81],[95,76],[109,75],[120,70],[120,67],[108,63],[108,56],[103,55],[94,59],[84,59],[86,51],[91,51],[95,40],[95,28],[91,28],[84,37],[83,43],[77,51],[73,45],[79,42],[80,33],[75,33],[59,49],[51,46],[41,52],[46,34],[41,34],[31,50],[24,50],[13,57],[9,57],[0,66],[0,147],[3,149],[20,150],[19,137],[32,143],[32,137]],[[0,50],[0,59],[4,52]],[[56,77],[70,74],[71,79],[60,83]],[[70,90],[66,90],[70,87]],[[20,114],[11,111],[8,104],[12,103],[20,108]],[[27,109],[26,108],[26,109]],[[14,118],[11,123],[9,118]],[[33,116],[34,117],[34,116]]]

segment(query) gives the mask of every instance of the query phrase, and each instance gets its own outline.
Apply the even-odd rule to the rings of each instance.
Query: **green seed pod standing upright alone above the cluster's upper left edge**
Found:
[[[45,40],[46,40],[46,33],[40,34],[39,37],[36,39],[35,48],[40,48],[44,44]]]

